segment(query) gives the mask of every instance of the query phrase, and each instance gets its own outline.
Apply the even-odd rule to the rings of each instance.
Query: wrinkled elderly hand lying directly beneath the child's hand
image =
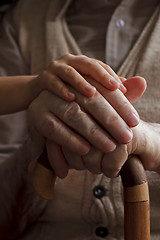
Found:
[[[117,143],[128,143],[132,139],[132,132],[127,124],[133,127],[139,121],[132,105],[119,90],[107,92],[100,85],[98,90],[107,101],[98,92],[90,98],[85,98],[73,90],[78,105],[76,102],[66,102],[44,91],[30,106],[32,136],[33,142],[36,143],[33,144],[33,149],[37,149],[35,145],[40,139],[43,148],[44,138],[47,139],[48,157],[59,177],[64,177],[68,171],[68,163],[60,146],[72,153],[85,155],[90,149],[89,142],[102,152],[110,152],[116,148]],[[107,131],[104,131],[97,121]],[[78,167],[71,162],[69,167],[84,168],[81,161],[75,164]]]

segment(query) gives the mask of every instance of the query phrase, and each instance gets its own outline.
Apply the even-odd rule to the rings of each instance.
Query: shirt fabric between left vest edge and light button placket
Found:
[[[105,62],[106,30],[120,1],[72,1],[66,10],[67,25],[81,52]]]

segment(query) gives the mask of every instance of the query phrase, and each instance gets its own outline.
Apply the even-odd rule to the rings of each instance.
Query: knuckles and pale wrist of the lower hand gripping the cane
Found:
[[[92,147],[85,156],[63,149],[70,168],[88,169],[113,178],[118,175],[129,155],[138,155],[146,170],[160,173],[160,127],[140,121],[133,129],[133,139],[128,144],[117,144],[113,152],[104,153]],[[158,129],[158,131],[157,131]]]

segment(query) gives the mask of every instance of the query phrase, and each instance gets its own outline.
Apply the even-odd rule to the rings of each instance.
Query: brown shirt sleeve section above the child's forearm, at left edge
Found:
[[[12,12],[9,11],[0,23],[0,76],[29,74],[17,41]]]

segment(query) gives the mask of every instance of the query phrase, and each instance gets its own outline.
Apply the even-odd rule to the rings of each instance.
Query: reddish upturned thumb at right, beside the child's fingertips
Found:
[[[123,82],[123,85],[127,88],[127,92],[124,95],[130,103],[137,101],[147,88],[146,80],[139,76],[128,78]]]

